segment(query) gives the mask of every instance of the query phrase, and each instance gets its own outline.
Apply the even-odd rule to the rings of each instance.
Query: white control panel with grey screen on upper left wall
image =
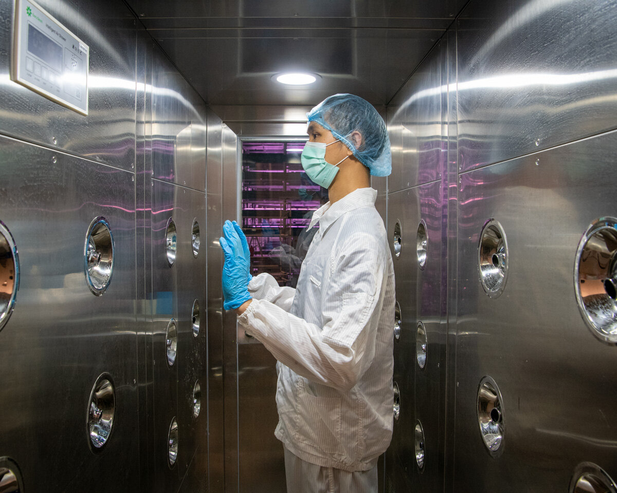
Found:
[[[11,78],[88,115],[89,47],[31,0],[15,2]]]

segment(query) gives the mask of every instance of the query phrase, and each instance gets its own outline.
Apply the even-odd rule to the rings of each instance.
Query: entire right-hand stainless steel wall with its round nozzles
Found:
[[[615,25],[614,0],[472,0],[388,108],[387,492],[615,491]]]

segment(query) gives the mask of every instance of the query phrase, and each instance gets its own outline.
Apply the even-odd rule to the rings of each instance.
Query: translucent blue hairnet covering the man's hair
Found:
[[[386,123],[370,102],[353,94],[334,94],[310,110],[307,118],[331,131],[347,145],[372,175],[388,176],[392,172]],[[348,140],[352,132],[360,132],[362,136],[357,149]]]

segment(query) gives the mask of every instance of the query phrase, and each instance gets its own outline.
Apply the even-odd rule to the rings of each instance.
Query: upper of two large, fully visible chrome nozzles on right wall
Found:
[[[491,298],[499,298],[508,280],[508,243],[501,224],[495,219],[489,219],[482,228],[478,269],[486,294]]]

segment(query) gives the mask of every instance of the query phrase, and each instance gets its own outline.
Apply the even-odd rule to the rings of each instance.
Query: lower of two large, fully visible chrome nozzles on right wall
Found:
[[[503,450],[503,404],[491,377],[482,378],[478,387],[478,423],[486,449],[496,457]]]

